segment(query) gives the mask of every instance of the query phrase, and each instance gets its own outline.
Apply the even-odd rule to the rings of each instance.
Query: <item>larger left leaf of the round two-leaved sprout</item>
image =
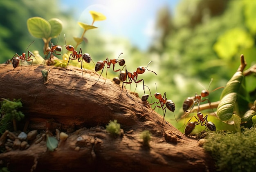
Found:
[[[37,38],[49,38],[51,34],[51,25],[49,22],[40,17],[32,17],[27,20],[27,29],[29,33]]]

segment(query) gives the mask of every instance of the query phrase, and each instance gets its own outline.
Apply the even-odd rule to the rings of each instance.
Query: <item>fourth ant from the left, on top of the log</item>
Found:
[[[123,53],[120,53],[120,55],[121,55],[121,54],[123,54]],[[100,70],[102,69],[101,74],[102,74],[102,72],[103,72],[103,69],[104,69],[105,65],[107,64],[107,68],[106,68],[106,70],[107,70],[107,71],[106,71],[106,79],[105,79],[104,84],[106,83],[107,74],[108,74],[108,68],[110,68],[111,64],[113,64],[113,71],[114,71],[114,72],[121,71],[121,69],[118,69],[118,70],[115,70],[115,69],[114,69],[114,68],[115,68],[115,64],[117,64],[117,62],[119,63],[120,66],[124,66],[124,64],[125,64],[125,60],[124,60],[124,59],[120,59],[120,60],[118,61],[118,58],[120,57],[120,55],[117,57],[117,59],[110,59],[110,60],[108,60],[108,57],[107,57],[106,60],[104,60],[104,61],[100,60],[99,62],[96,63],[96,65],[95,65],[95,73],[98,72],[98,71],[100,71]],[[95,73],[94,73],[94,75],[95,75]],[[101,77],[101,75],[99,75],[99,78],[100,78],[100,77]],[[99,79],[97,80],[97,82],[98,82],[98,81],[99,81]],[[116,79],[115,81],[117,82],[118,80]],[[97,82],[95,82],[95,84],[96,84]],[[120,81],[119,81],[119,83],[120,83]],[[95,84],[93,84],[92,86],[94,86]]]

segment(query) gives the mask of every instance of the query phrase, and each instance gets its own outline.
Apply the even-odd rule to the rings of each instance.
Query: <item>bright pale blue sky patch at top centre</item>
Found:
[[[94,26],[106,34],[125,37],[141,50],[146,50],[154,35],[157,11],[168,6],[174,12],[179,0],[61,0],[64,9],[75,8],[74,17],[91,24],[89,11],[106,15],[107,20]],[[79,9],[79,10],[77,10]]]

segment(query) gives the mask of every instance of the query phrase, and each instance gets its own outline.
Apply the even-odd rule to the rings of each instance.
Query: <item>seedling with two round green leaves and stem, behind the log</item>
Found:
[[[62,22],[57,18],[47,21],[44,18],[32,17],[27,20],[27,29],[32,36],[43,39],[43,53],[46,55],[50,40],[62,31]]]

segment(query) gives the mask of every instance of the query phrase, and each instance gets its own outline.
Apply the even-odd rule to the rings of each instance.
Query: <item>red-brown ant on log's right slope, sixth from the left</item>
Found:
[[[147,99],[148,95],[145,95],[145,97],[141,97],[141,99]],[[148,105],[153,105],[153,104],[159,104],[160,103],[160,106],[155,106],[158,107],[158,108],[162,108],[163,110],[163,116],[165,117],[165,113],[166,113],[166,108],[171,110],[173,112],[173,115],[174,115],[174,110],[175,110],[175,103],[172,101],[172,100],[167,100],[166,98],[166,92],[164,92],[164,95],[162,96],[160,93],[157,93],[157,85],[155,84],[155,98],[158,99],[159,101],[158,102],[154,102],[154,103],[151,103],[151,104],[148,104]],[[165,107],[164,107],[165,105]],[[155,108],[153,110],[155,110]],[[153,110],[151,112],[153,112]],[[175,118],[175,115],[174,115],[174,118]],[[177,119],[175,118],[176,122]],[[163,118],[163,122],[162,122],[162,126],[164,125],[164,118]]]

